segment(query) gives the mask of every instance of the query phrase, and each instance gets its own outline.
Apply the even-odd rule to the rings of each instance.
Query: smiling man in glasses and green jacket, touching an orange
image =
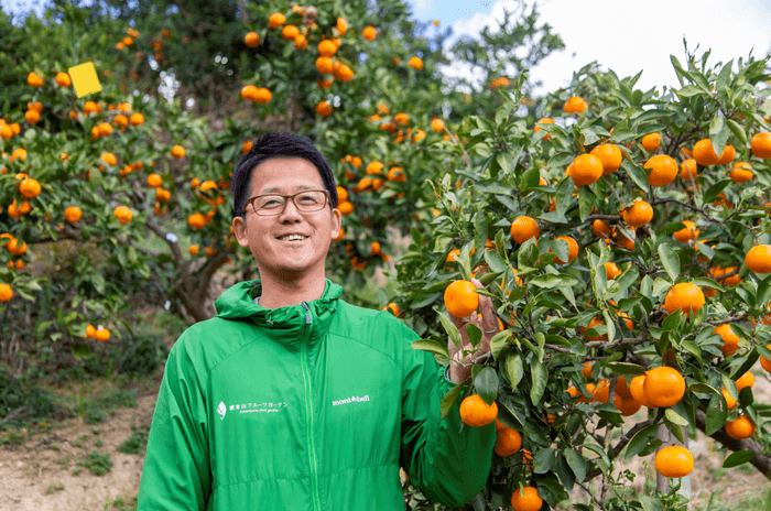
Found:
[[[260,280],[222,293],[217,316],[171,350],[138,509],[403,510],[400,466],[433,500],[471,499],[495,427],[460,431],[458,404],[439,421],[470,369],[450,343],[445,372],[402,322],[347,304],[325,278],[341,215],[322,153],[305,137],[265,133],[231,189],[235,235]],[[480,302],[484,352],[496,318]]]

